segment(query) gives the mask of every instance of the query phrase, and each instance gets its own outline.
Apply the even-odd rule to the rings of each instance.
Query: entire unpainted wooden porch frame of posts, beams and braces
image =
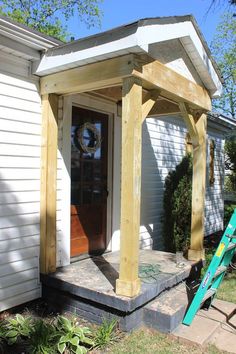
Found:
[[[176,72],[147,54],[127,54],[55,72],[41,78],[43,95],[43,154],[41,205],[41,269],[56,269],[56,145],[55,97],[93,92],[122,99],[121,250],[116,293],[133,297],[138,278],[141,200],[142,123],[151,114],[180,112],[193,143],[192,225],[189,258],[204,257],[204,200],[206,175],[206,113],[211,93],[203,84]],[[118,97],[117,96],[117,97]],[[49,129],[50,128],[50,129]],[[54,137],[54,138],[53,138]],[[52,164],[52,159],[54,164]],[[53,167],[52,167],[53,166]],[[50,197],[47,190],[50,188]],[[49,195],[49,194],[48,194]]]

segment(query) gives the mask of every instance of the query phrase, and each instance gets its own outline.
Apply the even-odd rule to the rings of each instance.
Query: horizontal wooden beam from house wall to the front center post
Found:
[[[41,94],[79,93],[122,84],[132,74],[135,56],[127,54],[93,64],[65,70],[41,78]]]

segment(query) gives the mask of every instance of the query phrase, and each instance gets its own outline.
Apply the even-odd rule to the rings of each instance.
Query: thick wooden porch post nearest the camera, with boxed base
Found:
[[[121,247],[116,293],[139,294],[139,229],[141,198],[142,85],[134,77],[123,80],[121,151]]]

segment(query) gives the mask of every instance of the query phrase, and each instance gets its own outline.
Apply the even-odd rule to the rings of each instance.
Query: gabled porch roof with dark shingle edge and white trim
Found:
[[[129,53],[148,54],[156,59],[153,46],[174,41],[181,43],[211,96],[219,96],[220,72],[191,15],[142,19],[51,48],[45,52],[35,74],[44,76]]]

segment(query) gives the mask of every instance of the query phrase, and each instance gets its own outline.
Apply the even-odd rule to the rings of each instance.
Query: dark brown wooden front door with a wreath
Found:
[[[72,108],[71,257],[106,248],[108,116]]]

